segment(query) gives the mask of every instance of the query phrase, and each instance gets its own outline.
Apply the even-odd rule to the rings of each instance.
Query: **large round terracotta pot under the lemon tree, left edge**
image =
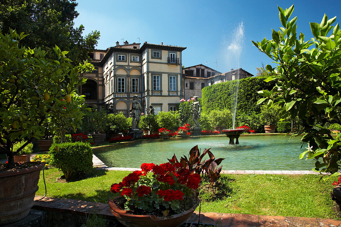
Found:
[[[20,221],[28,215],[43,167],[40,163],[26,169],[0,172],[0,225]]]

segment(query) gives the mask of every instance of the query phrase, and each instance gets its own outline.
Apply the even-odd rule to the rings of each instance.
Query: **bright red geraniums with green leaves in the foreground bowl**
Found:
[[[194,190],[201,180],[199,174],[191,173],[181,163],[174,162],[161,165],[144,163],[141,169],[111,186],[110,191],[119,193],[126,210],[136,207],[152,212],[157,209],[166,216],[170,211],[179,213],[181,208],[193,201],[191,197],[195,196]]]

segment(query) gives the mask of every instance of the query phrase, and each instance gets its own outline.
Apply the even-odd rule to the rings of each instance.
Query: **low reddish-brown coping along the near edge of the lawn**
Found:
[[[35,200],[42,196],[35,196]],[[86,202],[75,199],[58,199],[46,197],[34,203],[33,209],[47,210],[62,213],[72,213],[88,216],[90,214],[101,215],[105,219],[115,220],[115,216],[109,210],[109,204]],[[188,223],[198,223],[199,213],[194,212],[187,220]],[[210,224],[221,227],[341,227],[340,220],[306,218],[306,217],[284,217],[253,214],[229,214],[202,212],[200,214],[201,224]]]

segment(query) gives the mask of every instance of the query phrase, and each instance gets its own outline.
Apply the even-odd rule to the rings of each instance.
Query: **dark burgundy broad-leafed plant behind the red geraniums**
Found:
[[[203,157],[208,154],[209,159],[205,159],[202,161]],[[216,182],[220,177],[220,172],[223,166],[218,168],[218,165],[224,160],[225,158],[217,158],[214,157],[212,152],[209,149],[205,149],[202,154],[200,154],[200,150],[198,145],[194,146],[190,152],[188,158],[186,155],[180,158],[180,161],[176,158],[175,154],[173,155],[172,159],[168,159],[170,163],[176,165],[180,163],[184,168],[188,169],[191,173],[197,174],[208,174],[210,177],[210,184],[213,185],[213,182]]]

